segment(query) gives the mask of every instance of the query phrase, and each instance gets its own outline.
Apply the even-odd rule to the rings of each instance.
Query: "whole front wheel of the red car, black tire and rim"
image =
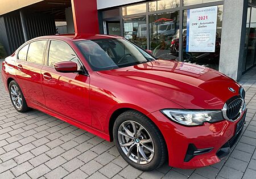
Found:
[[[141,171],[159,168],[167,159],[166,143],[158,127],[135,110],[128,110],[117,117],[113,137],[123,159]]]

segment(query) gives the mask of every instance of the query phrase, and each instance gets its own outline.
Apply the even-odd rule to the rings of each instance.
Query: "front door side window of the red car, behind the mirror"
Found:
[[[48,65],[53,66],[56,62],[64,61],[76,62],[78,69],[81,68],[79,59],[71,46],[65,42],[52,40],[49,47]]]

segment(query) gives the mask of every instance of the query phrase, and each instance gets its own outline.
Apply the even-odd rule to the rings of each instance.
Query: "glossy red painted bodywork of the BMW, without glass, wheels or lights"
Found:
[[[120,37],[78,35],[36,38],[67,42],[89,75],[59,73],[53,67],[20,61],[16,59],[15,52],[3,62],[2,79],[6,90],[10,80],[14,79],[31,108],[109,141],[113,139],[114,117],[126,109],[138,110],[148,116],[163,134],[170,166],[197,168],[220,161],[216,152],[232,138],[239,120],[187,127],[171,121],[160,110],[221,110],[228,99],[239,95],[240,85],[218,71],[175,61],[156,60],[121,69],[92,71],[73,42],[108,38]],[[236,92],[230,92],[229,87]],[[184,162],[189,143],[197,148],[213,147],[213,150]]]

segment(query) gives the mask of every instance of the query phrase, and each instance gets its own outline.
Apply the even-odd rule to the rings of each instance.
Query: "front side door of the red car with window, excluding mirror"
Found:
[[[84,69],[75,51],[67,42],[51,40],[47,66],[42,69],[42,87],[46,108],[77,122],[91,125],[89,106],[90,78],[86,74],[59,73],[53,67],[55,62],[73,61],[78,69]]]

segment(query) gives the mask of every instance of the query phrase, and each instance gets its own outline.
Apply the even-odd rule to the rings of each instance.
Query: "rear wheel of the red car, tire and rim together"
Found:
[[[30,108],[27,106],[27,102],[24,98],[22,90],[15,80],[12,80],[9,84],[9,95],[11,103],[13,104],[14,108],[18,110],[18,112],[24,113],[30,110]]]

